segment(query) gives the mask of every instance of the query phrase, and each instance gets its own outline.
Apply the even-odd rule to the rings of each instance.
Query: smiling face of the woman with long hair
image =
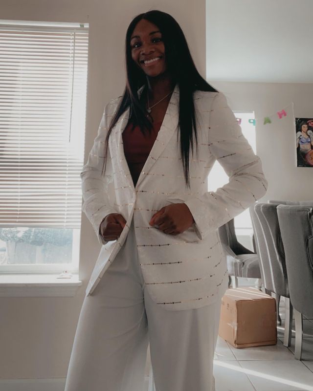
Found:
[[[132,58],[147,76],[156,77],[166,70],[165,48],[158,27],[141,19],[131,35]],[[145,63],[145,60],[155,61]]]

